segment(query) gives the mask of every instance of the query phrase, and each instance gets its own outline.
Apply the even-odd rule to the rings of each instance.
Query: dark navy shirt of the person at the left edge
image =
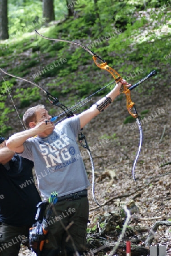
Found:
[[[34,184],[30,160],[14,155],[0,164],[0,222],[12,226],[32,226],[36,205],[41,201]]]

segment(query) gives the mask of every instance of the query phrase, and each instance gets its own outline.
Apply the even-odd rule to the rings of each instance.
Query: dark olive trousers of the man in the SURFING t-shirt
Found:
[[[43,249],[46,253],[43,255],[47,256],[48,252],[51,255],[51,250],[62,251],[62,255],[72,255],[76,250],[80,253],[84,252],[88,217],[87,196],[77,200],[57,202],[48,221],[49,231]]]

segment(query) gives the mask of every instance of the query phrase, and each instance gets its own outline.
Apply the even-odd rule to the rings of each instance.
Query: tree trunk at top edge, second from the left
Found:
[[[46,22],[55,20],[53,0],[43,0],[43,18],[45,18]]]

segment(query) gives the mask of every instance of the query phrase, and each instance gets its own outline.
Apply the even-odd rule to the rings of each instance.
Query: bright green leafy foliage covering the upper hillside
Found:
[[[75,40],[87,46],[107,60],[110,67],[115,68],[127,81],[131,80],[131,83],[156,69],[158,74],[152,82],[137,87],[140,94],[144,90],[147,94],[153,93],[157,81],[163,79],[162,71],[169,65],[168,3],[159,0],[98,0],[97,7],[94,10],[94,2],[91,0],[77,1],[74,5],[75,16],[66,18],[68,10],[65,2],[55,0],[57,22],[46,27],[42,20],[41,1],[9,0],[10,39],[0,44],[3,56],[1,68],[24,77],[35,67],[35,82],[47,81],[51,77],[45,88],[55,97],[65,98],[68,106],[101,89],[111,80],[109,73],[101,71],[84,49],[35,36],[32,31],[36,28],[49,38]],[[61,63],[61,59],[66,61]],[[54,67],[49,68],[52,66]],[[44,71],[41,76],[40,71]],[[89,76],[91,79],[88,79]],[[168,75],[165,75],[165,79],[166,76]],[[34,78],[31,77],[30,80]],[[12,88],[15,88],[16,80],[12,78],[10,82],[13,84]],[[20,109],[41,100],[39,89],[32,86],[14,90],[14,98],[19,101]],[[106,91],[103,90],[98,95],[108,91],[109,88],[106,88]],[[122,96],[117,100],[122,100]],[[144,114],[146,113],[141,113],[141,118]],[[5,117],[1,116],[2,121],[3,119]],[[124,123],[132,121],[135,119],[127,117]]]

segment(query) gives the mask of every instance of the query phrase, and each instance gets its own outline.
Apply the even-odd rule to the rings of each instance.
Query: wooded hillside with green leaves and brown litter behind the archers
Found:
[[[86,102],[87,96],[110,84],[112,76],[99,69],[83,48],[45,40],[34,30],[49,38],[81,43],[131,84],[152,70],[157,71],[155,77],[131,92],[144,133],[136,183],[131,169],[139,130],[127,112],[125,96],[120,95],[109,109],[85,127],[95,160],[95,191],[98,191],[95,193],[103,205],[95,206],[89,189],[89,234],[97,222],[103,226],[105,214],[118,211],[133,198],[139,208],[134,214],[140,217],[140,225],[150,229],[155,218],[170,221],[171,1],[0,0],[0,4],[0,68],[36,82],[68,108],[76,104],[80,107],[80,101]],[[44,104],[51,115],[63,112],[50,105],[45,94],[26,81],[1,72],[0,84],[0,126],[5,137],[24,129],[19,118],[22,119],[29,106]],[[89,108],[112,86],[94,94],[81,108],[73,108],[74,113]],[[82,154],[91,181],[90,160],[84,149]],[[115,229],[119,236],[122,225]],[[153,245],[166,245],[171,255],[170,228],[160,228],[157,232]],[[141,237],[141,245],[144,241]],[[91,241],[90,248],[93,246]],[[106,250],[101,255],[107,253]]]

